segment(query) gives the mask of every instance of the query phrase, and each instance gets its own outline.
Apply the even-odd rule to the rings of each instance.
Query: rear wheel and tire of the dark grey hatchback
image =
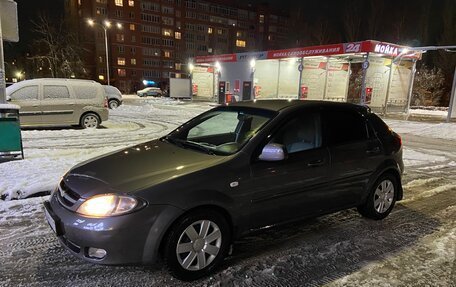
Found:
[[[398,191],[397,178],[390,173],[383,174],[372,186],[366,202],[358,206],[359,213],[375,220],[387,217],[396,203]]]

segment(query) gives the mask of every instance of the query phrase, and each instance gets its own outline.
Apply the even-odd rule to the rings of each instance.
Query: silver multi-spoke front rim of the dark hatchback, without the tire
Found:
[[[222,233],[210,220],[199,220],[188,226],[179,237],[176,255],[186,270],[201,270],[214,261],[220,252]]]

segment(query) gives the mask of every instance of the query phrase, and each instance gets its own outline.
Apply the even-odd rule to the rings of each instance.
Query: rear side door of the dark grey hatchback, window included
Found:
[[[356,206],[381,161],[381,144],[369,138],[366,118],[356,110],[326,108],[323,123],[323,142],[331,157],[328,208]]]

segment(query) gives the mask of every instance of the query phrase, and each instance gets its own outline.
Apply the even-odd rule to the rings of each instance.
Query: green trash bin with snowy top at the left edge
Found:
[[[24,158],[19,106],[0,104],[0,160]]]

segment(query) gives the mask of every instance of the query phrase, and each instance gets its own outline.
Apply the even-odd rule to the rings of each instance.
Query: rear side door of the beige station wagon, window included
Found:
[[[43,124],[60,125],[72,123],[75,101],[67,85],[45,83],[41,107]]]

